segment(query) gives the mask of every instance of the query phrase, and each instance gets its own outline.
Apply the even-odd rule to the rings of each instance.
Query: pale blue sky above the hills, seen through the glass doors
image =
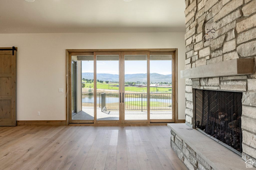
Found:
[[[147,73],[147,61],[126,60],[125,74]],[[82,61],[82,73],[93,73],[93,61]],[[119,61],[97,61],[97,73],[119,74]],[[151,60],[150,73],[172,74],[171,60]]]

